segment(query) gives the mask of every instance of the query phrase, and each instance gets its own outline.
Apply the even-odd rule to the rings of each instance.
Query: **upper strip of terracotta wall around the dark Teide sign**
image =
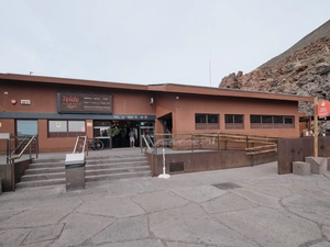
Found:
[[[2,94],[3,92],[8,94]],[[100,89],[95,87],[70,87],[54,85],[40,85],[30,82],[10,82],[0,85],[2,104],[0,111],[3,112],[57,112],[57,92],[74,93],[100,93],[112,94],[113,114],[154,114],[155,105],[150,104],[152,93],[141,91],[123,91],[118,89]],[[11,100],[15,99],[18,103],[13,105]],[[31,105],[21,105],[21,100],[30,100]]]

